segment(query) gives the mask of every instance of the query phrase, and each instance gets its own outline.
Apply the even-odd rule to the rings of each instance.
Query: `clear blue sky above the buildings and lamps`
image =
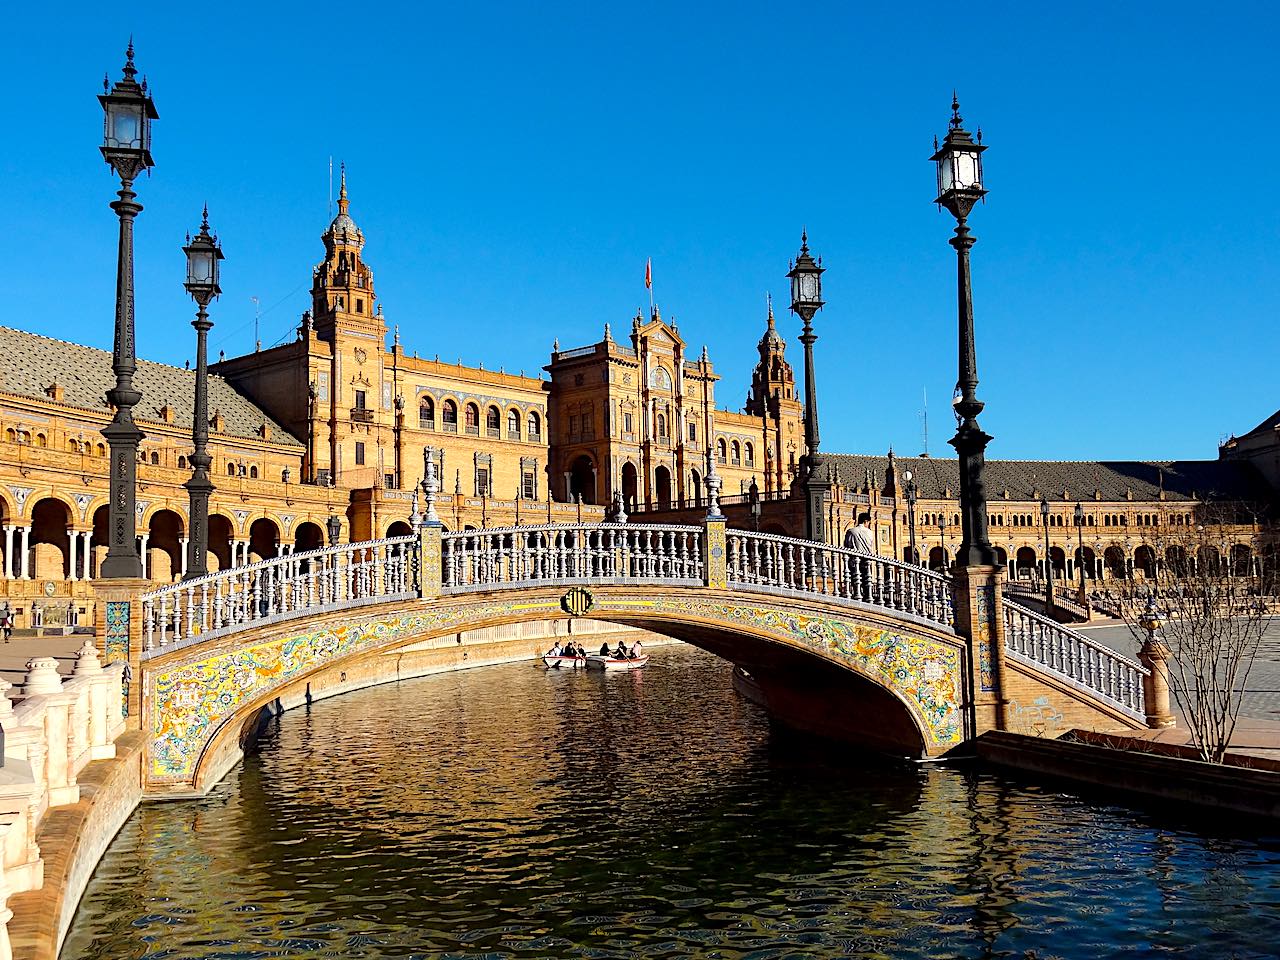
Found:
[[[0,323],[110,348],[95,95],[132,31],[160,111],[145,357],[193,356],[179,246],[205,201],[227,252],[214,353],[252,348],[253,296],[264,342],[289,335],[333,156],[407,348],[534,371],[556,337],[625,334],[652,256],[733,407],[806,224],[828,268],[824,449],[918,453],[927,389],[929,449],[950,454],[952,223],[928,157],[956,87],[989,145],[972,218],[988,456],[1212,457],[1280,406],[1272,4],[870,6],[20,5]]]

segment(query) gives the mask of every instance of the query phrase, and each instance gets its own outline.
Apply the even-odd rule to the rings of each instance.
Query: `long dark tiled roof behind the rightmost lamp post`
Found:
[[[849,453],[826,453],[823,460],[835,465],[840,477],[861,485],[867,470],[872,484],[884,488],[888,457]],[[938,457],[895,457],[897,483],[908,470],[923,499],[957,499],[960,467],[955,460]],[[1179,461],[1052,461],[1052,460],[988,460],[986,466],[988,500],[1052,502],[1092,500],[1094,492],[1102,500],[1157,500],[1160,490],[1166,502],[1178,500],[1248,500],[1271,502],[1275,492],[1253,465],[1230,460]],[[950,493],[948,493],[950,490]],[[1064,495],[1065,493],[1065,495]]]

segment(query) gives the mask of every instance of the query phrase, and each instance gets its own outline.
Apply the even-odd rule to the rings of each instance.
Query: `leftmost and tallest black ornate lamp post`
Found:
[[[120,178],[119,200],[110,206],[120,218],[120,237],[115,266],[115,347],[111,370],[115,385],[106,398],[115,407],[111,422],[102,428],[102,435],[111,451],[110,493],[108,500],[108,550],[100,576],[108,580],[141,577],[142,558],[138,556],[136,508],[138,443],[143,434],[133,422],[133,407],[142,399],[133,385],[137,360],[133,347],[133,220],[142,212],[133,192],[133,180],[151,161],[151,120],[159,119],[155,104],[147,95],[143,79],[134,77],[133,41],[124,60],[124,76],[108,86],[102,79],[99,102],[106,115],[102,137],[102,159]]]

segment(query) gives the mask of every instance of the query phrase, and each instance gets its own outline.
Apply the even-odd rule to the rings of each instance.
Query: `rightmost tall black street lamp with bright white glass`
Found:
[[[951,238],[957,257],[957,293],[960,315],[960,378],[952,407],[956,415],[956,435],[951,445],[960,458],[960,556],[963,567],[995,566],[996,552],[987,536],[987,488],[983,465],[991,436],[978,426],[978,413],[983,403],[977,397],[978,360],[973,333],[973,292],[969,278],[969,248],[974,238],[966,223],[973,205],[987,191],[982,186],[982,131],[978,142],[961,125],[960,101],[951,99],[951,128],[942,146],[931,157],[938,166],[938,196],[934,202],[956,218],[956,236]]]

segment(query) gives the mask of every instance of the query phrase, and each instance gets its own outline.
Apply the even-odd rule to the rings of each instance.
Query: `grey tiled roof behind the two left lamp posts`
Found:
[[[50,399],[47,389],[56,383],[63,388],[63,403],[82,410],[109,411],[106,392],[115,385],[111,355],[79,343],[67,343],[49,337],[0,326],[0,364],[4,380],[0,389],[20,397]],[[196,403],[196,371],[140,360],[133,385],[142,399],[133,408],[140,420],[160,420],[160,408],[169,406],[175,426],[191,429]],[[209,415],[220,412],[223,433],[244,439],[261,439],[259,430],[266,422],[271,443],[301,445],[261,407],[220,376],[209,378]]]

